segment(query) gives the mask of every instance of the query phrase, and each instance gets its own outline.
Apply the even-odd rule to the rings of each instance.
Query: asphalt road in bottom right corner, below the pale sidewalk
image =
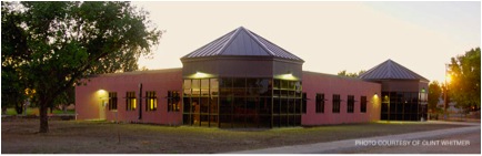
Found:
[[[413,142],[415,141],[415,142]],[[481,132],[453,134],[425,139],[413,139],[418,145],[374,146],[338,150],[340,154],[481,154]],[[420,141],[420,142],[419,142]],[[442,145],[451,141],[452,145]],[[459,144],[458,144],[459,143]],[[458,145],[456,145],[458,144]]]

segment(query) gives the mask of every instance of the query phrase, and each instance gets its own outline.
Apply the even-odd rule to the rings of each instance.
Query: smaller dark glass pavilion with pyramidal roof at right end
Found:
[[[382,84],[381,119],[419,121],[426,118],[429,80],[386,60],[359,76]]]

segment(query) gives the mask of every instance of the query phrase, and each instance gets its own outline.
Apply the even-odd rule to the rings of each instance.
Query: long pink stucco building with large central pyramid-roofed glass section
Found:
[[[242,27],[181,62],[91,77],[76,87],[77,119],[221,128],[364,123],[385,115],[379,95],[399,81],[302,71],[302,59]]]

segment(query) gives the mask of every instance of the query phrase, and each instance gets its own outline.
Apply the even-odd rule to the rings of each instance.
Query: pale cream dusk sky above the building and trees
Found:
[[[369,70],[388,59],[443,81],[450,58],[481,43],[481,3],[469,2],[132,2],[167,32],[150,70],[244,27],[305,62],[304,71]]]

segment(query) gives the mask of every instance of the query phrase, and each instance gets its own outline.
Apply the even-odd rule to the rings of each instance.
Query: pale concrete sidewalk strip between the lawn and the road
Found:
[[[440,136],[445,136],[445,135],[473,133],[473,132],[480,132],[481,131],[480,123],[460,123],[460,122],[429,122],[429,123],[430,124],[459,124],[459,125],[472,125],[472,126],[461,127],[461,128],[448,128],[448,129],[438,129],[438,131],[429,131],[429,132],[408,133],[408,134],[399,134],[399,135],[345,139],[345,141],[337,141],[337,142],[328,142],[328,143],[308,144],[308,145],[283,146],[283,147],[255,149],[255,150],[241,150],[241,152],[233,152],[231,154],[322,154],[322,153],[337,153],[338,150],[348,150],[348,149],[358,149],[358,148],[368,147],[368,146],[363,146],[363,145],[355,145],[355,143],[357,142],[360,143],[360,141],[371,141],[371,142],[380,142],[380,143],[388,143],[390,141],[413,141],[413,139],[420,141],[420,139],[429,139],[429,138],[434,138],[434,137],[440,137]]]

